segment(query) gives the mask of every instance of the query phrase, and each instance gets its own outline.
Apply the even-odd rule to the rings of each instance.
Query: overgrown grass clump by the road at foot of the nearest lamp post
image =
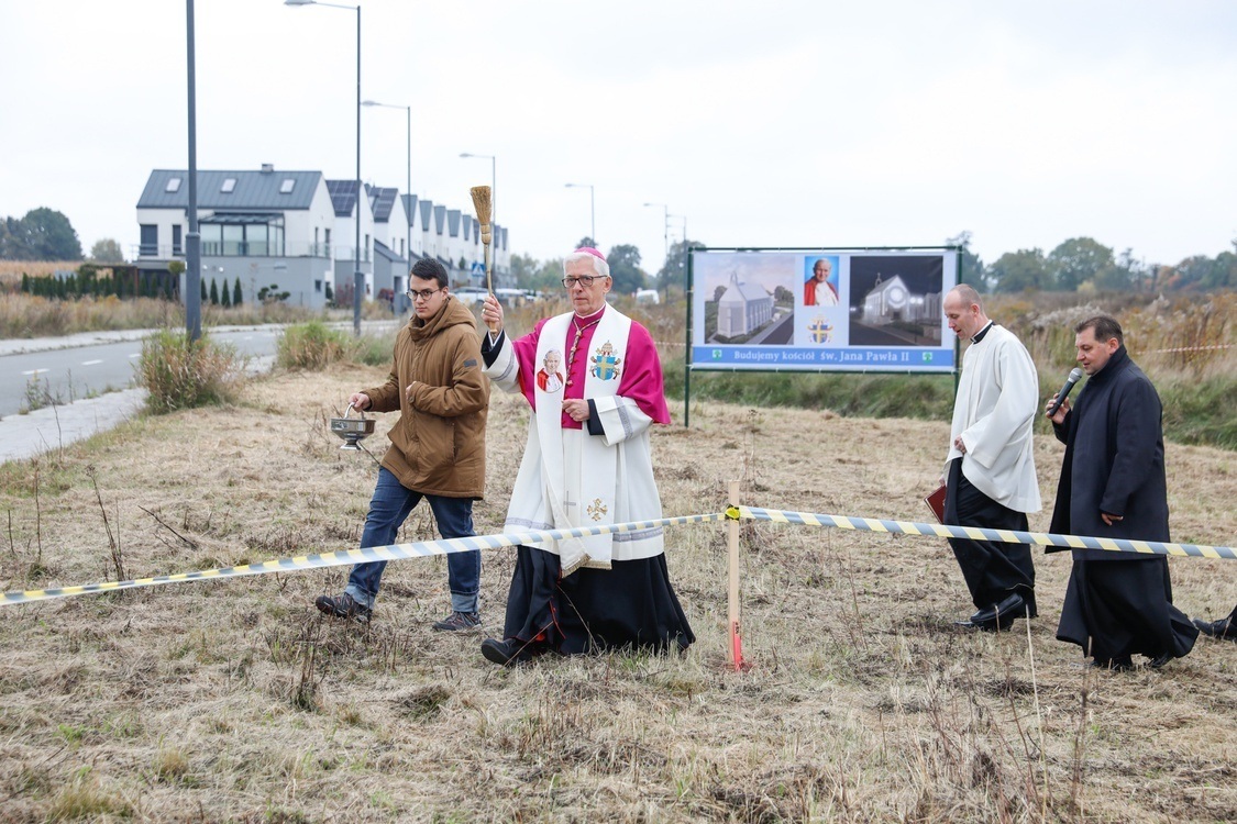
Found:
[[[162,329],[142,342],[139,373],[150,393],[146,408],[156,414],[235,400],[245,361],[230,346],[209,336],[189,341],[184,332]]]

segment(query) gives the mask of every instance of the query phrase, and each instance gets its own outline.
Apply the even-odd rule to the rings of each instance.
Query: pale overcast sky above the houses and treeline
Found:
[[[197,0],[198,166],[355,175],[356,15]],[[986,262],[1091,236],[1148,263],[1237,237],[1237,2],[473,0],[362,5],[362,96],[413,106],[412,188],[516,252],[589,233],[663,254],[938,245]],[[137,243],[187,168],[186,4],[0,0],[0,215]],[[361,175],[404,188],[404,112],[364,109]],[[672,240],[682,221],[672,219]]]

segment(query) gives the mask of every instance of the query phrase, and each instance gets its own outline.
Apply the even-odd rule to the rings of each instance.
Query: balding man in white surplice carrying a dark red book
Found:
[[[1022,341],[983,313],[974,288],[960,284],[943,303],[949,327],[970,341],[954,399],[945,458],[945,523],[1027,530],[1040,509],[1032,426],[1039,377]],[[1027,544],[950,539],[978,610],[961,626],[1007,629],[1034,618],[1035,567]]]

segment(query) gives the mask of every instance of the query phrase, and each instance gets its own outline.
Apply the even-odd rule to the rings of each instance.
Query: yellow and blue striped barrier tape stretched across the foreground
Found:
[[[371,546],[360,550],[324,552],[320,555],[301,555],[259,563],[245,563],[235,567],[179,572],[176,574],[135,578],[132,581],[105,581],[77,587],[53,589],[27,589],[0,593],[0,607],[6,604],[28,604],[53,598],[71,598],[101,592],[120,592],[137,587],[156,587],[186,581],[219,581],[241,576],[267,574],[270,572],[289,572],[294,570],[319,570],[370,561],[403,561],[432,555],[450,555],[452,552],[470,552],[473,550],[497,550],[505,546],[537,544],[564,537],[585,535],[606,535],[632,532],[637,530],[680,524],[701,524],[721,520],[764,520],[778,524],[804,524],[809,526],[829,526],[867,532],[896,532],[902,535],[920,535],[936,537],[964,537],[972,540],[1001,541],[1004,544],[1033,544],[1037,546],[1056,546],[1071,550],[1105,550],[1108,552],[1137,552],[1142,555],[1173,555],[1197,558],[1237,560],[1237,550],[1231,546],[1204,546],[1197,544],[1171,544],[1166,541],[1136,541],[1115,537],[1090,537],[1079,535],[1058,535],[1054,532],[1024,532],[1006,529],[986,529],[981,526],[950,526],[925,524],[919,521],[899,521],[883,518],[852,518],[850,515],[824,515],[800,513],[785,509],[763,509],[760,507],[730,507],[725,513],[705,515],[679,515],[647,521],[626,524],[601,524],[576,529],[528,530],[524,532],[505,532],[500,535],[476,535],[473,537],[452,537],[437,541],[417,541],[413,544],[391,544]]]

